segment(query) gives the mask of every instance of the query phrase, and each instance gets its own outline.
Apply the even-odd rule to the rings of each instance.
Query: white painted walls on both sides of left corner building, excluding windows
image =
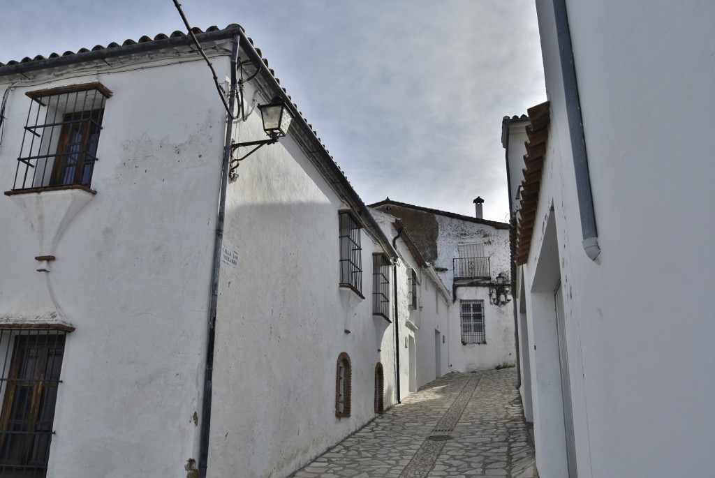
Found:
[[[207,44],[226,90],[232,34]],[[92,177],[96,194],[55,188],[0,196],[0,329],[71,331],[48,477],[195,478],[202,465],[227,119],[200,57],[186,46],[157,45],[24,74],[0,65],[0,91],[9,89],[4,191],[14,188],[32,101],[26,92],[91,81],[112,91]],[[235,142],[265,138],[255,104],[282,94],[269,80],[245,84],[247,119],[235,122]],[[278,144],[242,161],[227,186],[222,246],[231,260],[220,263],[208,477],[286,477],[355,432],[375,417],[378,364],[385,409],[397,402],[396,351],[400,398],[448,371],[446,340],[435,354],[436,332],[448,334],[448,292],[398,242],[395,344],[393,308],[387,318],[374,315],[372,297],[373,254],[390,261],[395,254],[390,225],[378,225],[345,178],[334,176],[325,149],[306,152],[315,134],[294,124]],[[339,286],[341,211],[362,226],[362,294]],[[420,278],[418,310],[408,306],[411,269]],[[9,357],[12,340],[0,343]],[[352,394],[350,417],[338,418],[341,353],[350,357]],[[6,401],[5,389],[0,394]]]

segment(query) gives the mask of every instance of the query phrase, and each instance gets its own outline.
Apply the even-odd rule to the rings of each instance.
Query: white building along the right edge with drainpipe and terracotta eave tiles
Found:
[[[712,476],[715,4],[536,6],[548,101],[503,138],[539,473]]]

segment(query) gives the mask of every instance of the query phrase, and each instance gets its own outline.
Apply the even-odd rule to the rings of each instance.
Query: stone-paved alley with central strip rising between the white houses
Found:
[[[295,478],[538,478],[516,369],[452,373],[375,418]]]

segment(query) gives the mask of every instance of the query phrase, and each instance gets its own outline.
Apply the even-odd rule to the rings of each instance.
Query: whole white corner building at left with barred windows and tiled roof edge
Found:
[[[239,26],[197,38],[218,85],[181,32],[0,64],[0,476],[285,477],[438,372],[440,314],[429,359],[394,327],[434,272]]]

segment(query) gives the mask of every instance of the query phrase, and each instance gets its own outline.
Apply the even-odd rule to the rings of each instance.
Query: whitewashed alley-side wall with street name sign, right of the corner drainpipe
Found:
[[[236,141],[265,137],[260,124],[255,111]],[[365,231],[365,299],[338,287],[345,205],[295,141],[265,146],[237,171],[225,245],[239,259],[221,270],[209,476],[285,477],[375,417],[378,362],[385,409],[395,402],[394,331],[373,316],[373,252],[381,249]],[[338,419],[341,352],[352,364],[352,411]]]

